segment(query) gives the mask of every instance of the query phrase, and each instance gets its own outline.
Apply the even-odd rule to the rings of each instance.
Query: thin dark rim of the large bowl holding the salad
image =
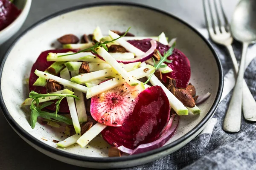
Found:
[[[99,163],[111,163],[111,162],[120,162],[120,161],[131,161],[134,159],[140,159],[143,157],[147,157],[147,156],[151,156],[157,153],[161,153],[167,149],[170,149],[172,147],[175,147],[176,145],[180,144],[181,142],[186,141],[186,139],[189,139],[189,137],[191,137],[195,132],[197,132],[198,130],[200,130],[201,127],[204,126],[204,124],[212,117],[212,115],[215,113],[217,106],[220,102],[221,99],[221,94],[223,91],[223,84],[224,84],[224,76],[223,76],[223,69],[221,66],[221,62],[220,59],[218,58],[218,55],[216,54],[216,52],[214,51],[212,45],[209,43],[209,41],[207,39],[205,39],[201,33],[199,33],[195,28],[193,28],[192,26],[190,26],[188,23],[186,23],[185,21],[181,20],[180,18],[167,13],[166,11],[162,11],[160,9],[151,7],[151,6],[146,6],[146,5],[142,5],[142,4],[138,4],[138,3],[130,3],[130,2],[96,2],[96,3],[89,3],[89,4],[83,4],[83,5],[79,5],[79,6],[74,6],[71,8],[66,8],[64,10],[58,11],[54,14],[50,14],[47,17],[44,17],[43,19],[39,20],[38,22],[32,24],[32,26],[30,26],[29,28],[27,28],[25,31],[23,31],[17,38],[16,40],[12,43],[12,45],[9,47],[9,49],[6,51],[6,54],[4,55],[4,57],[1,59],[1,66],[0,66],[0,91],[1,90],[1,79],[2,79],[2,74],[3,74],[3,66],[4,63],[10,53],[10,51],[12,50],[12,48],[16,45],[16,42],[18,40],[20,40],[21,37],[23,37],[28,31],[30,31],[32,28],[40,25],[41,23],[46,22],[47,20],[56,17],[58,15],[61,14],[65,14],[71,11],[75,11],[75,10],[79,10],[82,8],[91,8],[91,7],[96,7],[96,6],[134,6],[134,7],[139,7],[139,8],[145,8],[154,12],[158,12],[161,14],[166,15],[167,17],[172,17],[173,19],[183,23],[184,25],[186,25],[187,27],[189,27],[192,31],[195,32],[195,34],[198,34],[199,37],[201,37],[201,39],[208,45],[208,48],[211,50],[216,62],[217,62],[217,66],[218,66],[218,71],[219,71],[219,85],[218,85],[218,92],[217,92],[217,96],[215,98],[215,101],[212,105],[212,107],[210,108],[209,112],[206,114],[206,116],[204,117],[204,119],[201,120],[201,122],[198,123],[198,125],[196,125],[192,130],[190,130],[188,133],[186,133],[184,136],[182,136],[181,138],[175,140],[174,142],[167,144],[163,147],[154,149],[154,150],[150,150],[147,151],[145,153],[139,153],[139,154],[135,154],[135,155],[131,155],[131,156],[123,156],[123,157],[90,157],[90,156],[79,156],[73,153],[68,153],[68,152],[64,152],[62,150],[58,150],[55,147],[49,146],[47,144],[45,144],[44,142],[41,142],[40,140],[36,139],[35,137],[33,137],[32,135],[30,135],[28,132],[26,132],[22,127],[20,127],[20,125],[18,125],[15,120],[12,118],[12,116],[10,115],[9,111],[6,108],[6,105],[3,101],[3,96],[0,95],[0,107],[3,111],[3,115],[5,116],[7,122],[9,122],[9,124],[15,129],[15,131],[17,131],[17,133],[20,133],[21,136],[23,136],[24,138],[26,138],[27,140],[29,140],[30,142],[32,142],[32,144],[35,144],[37,147],[40,147],[44,150],[47,150],[51,153],[54,153],[58,156],[63,156],[66,157],[68,159],[75,159],[78,161],[89,161],[89,162],[99,162]]]

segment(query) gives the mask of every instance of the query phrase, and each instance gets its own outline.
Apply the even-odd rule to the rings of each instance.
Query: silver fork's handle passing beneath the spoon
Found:
[[[236,71],[236,74],[238,73],[239,67],[238,63],[236,61],[236,57],[232,48],[232,45],[227,45],[227,50],[230,53],[230,57],[233,62],[234,69]],[[254,100],[253,95],[251,94],[245,80],[243,80],[243,88],[242,88],[242,108],[244,113],[244,119],[248,121],[256,121],[256,101]]]

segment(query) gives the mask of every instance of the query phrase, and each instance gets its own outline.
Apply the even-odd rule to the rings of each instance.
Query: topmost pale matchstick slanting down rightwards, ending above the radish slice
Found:
[[[124,79],[129,85],[134,86],[138,85],[138,83],[135,81],[133,77],[131,77],[130,74],[128,74],[127,71],[114,59],[108,51],[106,51],[104,48],[100,47],[96,50],[96,52],[101,56],[103,59],[105,59],[108,64],[110,64],[113,69],[115,69],[120,76],[122,76],[122,79]]]

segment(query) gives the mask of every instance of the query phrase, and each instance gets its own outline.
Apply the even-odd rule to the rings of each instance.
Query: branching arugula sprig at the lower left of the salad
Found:
[[[39,105],[39,99],[45,99],[46,97],[49,96],[57,96],[57,102],[55,102],[56,105],[56,111],[55,113],[49,113],[47,111],[42,111],[43,108],[52,105],[54,102],[44,102],[41,105]],[[73,97],[75,99],[79,98],[75,95],[72,94],[38,94],[35,91],[31,91],[29,93],[29,98],[32,99],[31,105],[30,105],[30,109],[31,109],[31,116],[30,116],[30,125],[32,127],[32,129],[35,128],[35,124],[37,122],[37,118],[38,117],[42,117],[44,119],[48,119],[51,121],[55,121],[55,122],[64,122],[67,125],[72,125],[72,119],[67,118],[66,116],[62,116],[62,115],[58,115],[58,111],[59,111],[59,105],[61,103],[61,100],[64,99],[65,97]],[[52,99],[55,100],[55,99]]]

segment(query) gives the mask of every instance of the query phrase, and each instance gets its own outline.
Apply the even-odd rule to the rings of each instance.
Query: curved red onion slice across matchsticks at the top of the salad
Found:
[[[151,47],[149,48],[149,50],[147,52],[145,52],[143,55],[141,56],[137,56],[133,59],[116,59],[117,62],[122,62],[124,64],[128,64],[131,62],[144,62],[148,59],[150,59],[152,57],[151,54],[153,54],[154,50],[157,48],[157,42],[155,40],[151,40]],[[134,47],[136,48],[136,47]],[[130,51],[132,52],[132,51]],[[102,57],[100,57],[99,55],[97,55],[100,59],[103,59]],[[104,59],[103,59],[104,60]]]

